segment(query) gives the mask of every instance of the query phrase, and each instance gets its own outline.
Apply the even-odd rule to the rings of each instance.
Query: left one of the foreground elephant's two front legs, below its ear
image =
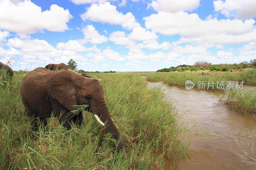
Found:
[[[67,110],[63,105],[61,105],[57,100],[52,101],[52,108],[55,111],[55,115],[59,118],[60,124],[67,130],[71,129],[72,118],[68,114]]]

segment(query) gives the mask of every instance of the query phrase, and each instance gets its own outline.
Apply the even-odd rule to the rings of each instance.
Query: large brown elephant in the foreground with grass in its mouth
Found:
[[[32,119],[32,130],[38,130],[37,117],[47,126],[46,118],[51,117],[52,111],[63,127],[70,129],[72,121],[80,127],[82,111],[73,116],[69,112],[76,110],[74,105],[89,104],[87,110],[108,128],[116,140],[120,140],[116,148],[123,148],[124,139],[109,115],[98,80],[81,76],[73,70],[51,71],[39,67],[23,78],[20,94],[27,116]]]

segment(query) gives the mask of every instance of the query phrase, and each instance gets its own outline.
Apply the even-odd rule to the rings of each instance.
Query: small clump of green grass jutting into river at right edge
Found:
[[[228,106],[239,113],[256,113],[256,92],[249,90],[230,90],[226,99]]]

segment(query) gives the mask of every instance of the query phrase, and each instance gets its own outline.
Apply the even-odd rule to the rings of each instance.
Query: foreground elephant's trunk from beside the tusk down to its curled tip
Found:
[[[100,115],[101,120],[104,122],[105,126],[108,128],[108,130],[110,131],[110,133],[112,133],[112,135],[114,136],[114,138],[117,141],[120,141],[118,143],[118,145],[115,147],[117,149],[122,149],[124,147],[124,139],[123,137],[120,136],[120,132],[117,130],[116,125],[114,124],[114,122],[112,121],[109,113],[108,113],[108,109],[107,107],[105,109],[103,109],[103,113]]]

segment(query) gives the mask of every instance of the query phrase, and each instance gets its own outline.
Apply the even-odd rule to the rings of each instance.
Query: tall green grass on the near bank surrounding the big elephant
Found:
[[[156,74],[156,73],[155,73]],[[159,74],[157,74],[159,75]],[[124,149],[115,151],[113,137],[84,112],[80,129],[63,130],[49,118],[50,131],[33,136],[24,113],[19,87],[23,72],[0,85],[0,167],[3,169],[163,169],[164,159],[187,154],[182,142],[188,129],[177,123],[172,101],[165,101],[160,88],[148,89],[140,74],[97,73],[105,101],[124,137]]]

